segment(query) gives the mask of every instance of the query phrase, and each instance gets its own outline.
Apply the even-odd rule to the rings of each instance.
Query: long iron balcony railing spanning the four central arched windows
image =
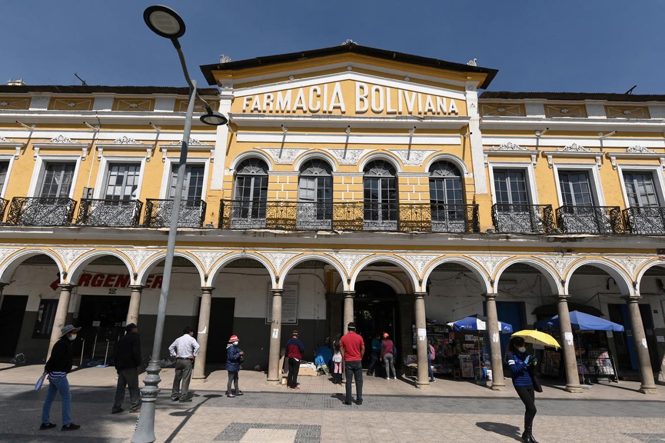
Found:
[[[220,229],[478,232],[477,205],[222,200]]]

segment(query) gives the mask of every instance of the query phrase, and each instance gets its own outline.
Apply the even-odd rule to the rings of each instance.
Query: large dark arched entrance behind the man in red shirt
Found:
[[[372,353],[372,339],[376,333],[387,332],[395,347],[400,349],[400,343],[397,343],[398,331],[401,330],[397,294],[390,285],[376,280],[361,280],[356,282],[355,288],[353,316],[356,319],[356,333],[359,333],[365,342],[362,367],[368,367]],[[400,356],[395,357],[397,366]]]

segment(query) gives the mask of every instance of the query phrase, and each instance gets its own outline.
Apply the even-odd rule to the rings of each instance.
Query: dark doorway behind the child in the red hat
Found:
[[[205,354],[205,363],[226,363],[226,345],[229,343],[229,337],[233,333],[233,309],[235,308],[235,298],[215,298],[211,299],[210,321],[208,331],[207,353]],[[201,298],[199,297],[199,312],[201,311]],[[196,332],[199,317],[196,317],[194,328]]]

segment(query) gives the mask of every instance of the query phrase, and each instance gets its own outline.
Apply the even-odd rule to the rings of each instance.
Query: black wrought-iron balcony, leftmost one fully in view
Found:
[[[66,197],[14,197],[7,223],[18,226],[67,226],[74,217],[76,201]]]

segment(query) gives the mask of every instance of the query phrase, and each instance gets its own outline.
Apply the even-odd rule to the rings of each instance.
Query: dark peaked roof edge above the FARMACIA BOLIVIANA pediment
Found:
[[[393,50],[385,50],[372,48],[370,46],[361,46],[355,43],[339,44],[329,48],[320,48],[312,50],[303,50],[299,52],[289,52],[288,54],[277,54],[263,57],[247,58],[245,60],[237,60],[235,62],[215,63],[215,64],[202,64],[201,71],[208,84],[217,84],[212,74],[213,70],[237,70],[251,68],[254,66],[263,66],[266,64],[287,63],[297,60],[307,60],[308,58],[319,58],[334,54],[341,54],[343,52],[356,52],[357,54],[368,55],[377,58],[384,58],[385,60],[394,60],[396,62],[419,64],[420,66],[428,66],[430,68],[454,70],[458,72],[481,72],[487,74],[485,82],[479,88],[487,88],[489,82],[492,81],[494,76],[499,72],[496,69],[482,68],[481,66],[469,66],[464,63],[447,62],[446,60],[439,60],[438,58],[422,57],[419,55],[405,54],[404,52],[396,52]]]

